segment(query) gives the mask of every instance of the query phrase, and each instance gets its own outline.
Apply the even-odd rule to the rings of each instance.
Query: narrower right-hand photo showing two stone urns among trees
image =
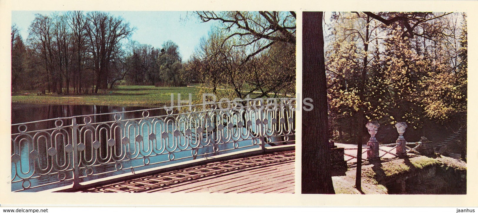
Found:
[[[303,12],[302,38],[302,193],[467,194],[467,13]]]

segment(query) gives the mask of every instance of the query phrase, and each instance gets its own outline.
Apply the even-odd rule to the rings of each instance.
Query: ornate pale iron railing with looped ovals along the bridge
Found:
[[[12,124],[11,189],[75,187],[173,162],[290,145],[294,123],[295,99],[284,98]]]

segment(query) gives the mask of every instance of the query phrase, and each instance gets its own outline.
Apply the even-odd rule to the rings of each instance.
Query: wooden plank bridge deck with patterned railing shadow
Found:
[[[294,193],[295,151],[208,163],[82,192]]]

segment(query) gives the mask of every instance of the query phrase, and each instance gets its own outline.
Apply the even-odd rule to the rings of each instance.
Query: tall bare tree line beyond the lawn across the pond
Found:
[[[119,83],[188,83],[177,44],[130,41],[130,23],[101,11],[36,14],[23,41],[11,27],[11,90],[98,93]]]

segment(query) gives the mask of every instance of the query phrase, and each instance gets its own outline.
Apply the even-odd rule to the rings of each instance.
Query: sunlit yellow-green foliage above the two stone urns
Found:
[[[428,20],[435,14],[403,15]],[[350,124],[363,126],[357,123],[361,110],[369,121],[405,121],[413,128],[422,127],[425,117],[439,123],[463,119],[466,21],[458,13],[438,15],[418,24],[423,32],[413,36],[398,22],[387,26],[364,13],[332,15],[326,45],[332,131],[353,135],[357,129],[350,129]]]

